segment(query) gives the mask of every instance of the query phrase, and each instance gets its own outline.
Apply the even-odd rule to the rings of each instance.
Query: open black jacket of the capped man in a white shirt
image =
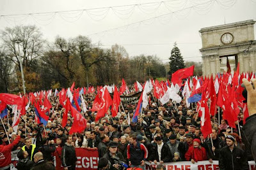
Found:
[[[160,162],[159,155],[157,152],[157,146],[155,147],[155,153],[155,160],[157,160],[157,162]],[[166,145],[166,143],[164,143],[163,148],[161,150],[161,160],[163,160],[163,162],[171,162],[172,159],[173,156],[171,155],[170,148],[168,145]]]

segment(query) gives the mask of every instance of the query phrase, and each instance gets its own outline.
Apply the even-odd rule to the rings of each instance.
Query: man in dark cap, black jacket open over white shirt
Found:
[[[155,138],[157,146],[155,147],[155,159],[154,163],[157,164],[159,162],[160,164],[163,164],[165,162],[171,162],[173,159],[173,155],[171,155],[170,148],[166,143],[163,143],[163,140],[160,136],[157,136]]]

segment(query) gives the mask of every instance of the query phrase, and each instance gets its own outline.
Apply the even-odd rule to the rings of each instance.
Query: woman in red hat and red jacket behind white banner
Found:
[[[193,147],[190,147],[185,154],[186,160],[191,160],[193,164],[201,160],[207,160],[206,150],[200,144],[200,139],[193,140]]]

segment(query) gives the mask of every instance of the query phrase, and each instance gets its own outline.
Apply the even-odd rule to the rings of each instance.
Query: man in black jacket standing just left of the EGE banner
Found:
[[[65,170],[76,169],[76,150],[71,143],[72,136],[68,136],[67,141],[61,150],[61,164]]]

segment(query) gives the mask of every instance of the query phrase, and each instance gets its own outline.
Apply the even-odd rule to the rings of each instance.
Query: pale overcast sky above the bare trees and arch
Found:
[[[124,46],[131,57],[157,55],[163,62],[168,62],[176,41],[184,60],[200,61],[202,41],[198,31],[201,28],[256,20],[256,0],[217,1],[219,3],[211,0],[163,0],[164,3],[154,0],[1,0],[0,15],[101,9],[1,17],[0,29],[36,25],[48,41],[54,41],[57,35],[74,38],[81,34],[95,44],[100,42],[102,48],[117,43]],[[129,4],[138,5],[125,6]],[[110,6],[122,7],[104,8]],[[138,24],[129,25],[132,23]],[[125,25],[129,26],[122,27]],[[105,32],[97,34],[102,31]]]

